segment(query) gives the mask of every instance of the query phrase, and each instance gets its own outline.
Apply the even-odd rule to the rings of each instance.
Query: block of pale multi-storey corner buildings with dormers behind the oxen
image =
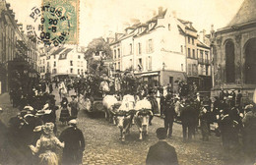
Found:
[[[202,38],[191,22],[160,7],[158,15],[145,24],[135,23],[115,34],[110,42],[113,66],[117,71],[133,71],[144,82],[170,83],[173,91],[176,82],[186,81],[210,93],[210,42],[206,43],[205,35]]]

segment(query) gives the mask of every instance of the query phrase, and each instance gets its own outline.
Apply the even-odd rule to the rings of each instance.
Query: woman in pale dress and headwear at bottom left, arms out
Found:
[[[36,141],[36,145],[30,145],[33,154],[38,154],[40,165],[58,165],[58,157],[55,153],[57,146],[64,147],[53,134],[53,123],[46,123],[42,126],[43,134]]]

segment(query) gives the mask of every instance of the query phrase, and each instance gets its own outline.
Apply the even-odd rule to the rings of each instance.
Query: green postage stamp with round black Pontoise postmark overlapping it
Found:
[[[44,45],[78,44],[79,0],[42,0],[33,7],[27,27]]]

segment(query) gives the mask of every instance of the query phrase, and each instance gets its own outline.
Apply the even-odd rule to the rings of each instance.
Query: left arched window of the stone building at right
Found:
[[[234,83],[234,44],[232,41],[227,41],[224,46],[225,50],[225,82]]]

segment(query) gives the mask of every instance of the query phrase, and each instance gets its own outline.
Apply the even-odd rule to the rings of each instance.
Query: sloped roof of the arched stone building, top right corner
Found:
[[[252,21],[256,21],[256,0],[244,0],[240,9],[227,27],[249,23]]]

